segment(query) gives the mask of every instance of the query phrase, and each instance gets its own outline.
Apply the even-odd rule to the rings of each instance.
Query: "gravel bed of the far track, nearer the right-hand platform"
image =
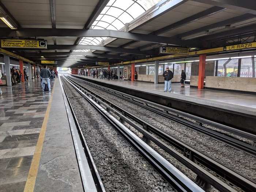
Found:
[[[124,101],[114,95],[108,94],[87,83],[83,83],[79,80],[75,81],[88,89],[93,90],[94,93],[101,95],[121,108],[133,113],[135,116],[142,118],[155,127],[160,128],[196,150],[201,151],[256,182],[256,157],[249,155],[244,151],[232,148],[227,144],[214,140],[202,133],[193,131],[146,109],[140,108],[139,106]]]

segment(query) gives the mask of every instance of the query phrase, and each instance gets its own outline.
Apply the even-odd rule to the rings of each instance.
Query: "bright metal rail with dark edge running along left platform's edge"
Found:
[[[59,78],[59,80],[71,129],[71,135],[75,146],[83,189],[85,192],[106,192],[97,167],[93,161],[93,157],[91,156],[89,147],[84,139],[72,105],[67,96],[67,92],[65,91],[65,88],[61,82],[61,78]]]

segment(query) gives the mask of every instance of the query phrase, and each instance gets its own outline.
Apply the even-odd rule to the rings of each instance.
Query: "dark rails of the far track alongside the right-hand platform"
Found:
[[[171,108],[168,108],[166,106],[159,105],[157,103],[146,101],[144,99],[140,99],[140,98],[134,97],[132,95],[128,95],[128,94],[125,94],[125,93],[121,93],[119,91],[111,90],[111,89],[106,88],[106,87],[102,88],[99,85],[96,85],[96,84],[91,83],[91,82],[87,82],[86,80],[83,80],[83,79],[80,79],[80,78],[75,78],[74,76],[72,76],[72,78],[77,79],[81,82],[90,84],[94,87],[98,87],[98,89],[101,89],[101,90],[105,91],[106,93],[112,94],[112,95],[114,95],[118,98],[121,98],[121,99],[125,100],[125,101],[128,101],[128,102],[131,102],[135,105],[138,105],[138,106],[140,106],[144,109],[150,110],[151,112],[154,112],[154,113],[156,113],[160,116],[163,116],[165,118],[169,118],[170,120],[173,120],[173,121],[175,121],[179,124],[185,125],[186,127],[190,128],[192,130],[195,130],[197,132],[201,132],[201,133],[203,133],[207,136],[210,136],[210,137],[212,137],[216,140],[219,140],[223,143],[226,143],[231,147],[243,150],[246,153],[249,153],[251,155],[256,156],[256,147],[255,146],[252,146],[248,143],[245,143],[245,142],[242,142],[240,140],[231,138],[230,136],[227,136],[223,133],[219,133],[217,131],[205,128],[205,127],[202,126],[202,123],[212,125],[214,127],[222,129],[223,131],[228,131],[228,132],[234,133],[236,135],[242,136],[244,138],[250,139],[254,143],[256,141],[256,135],[253,135],[251,133],[247,133],[247,132],[244,132],[244,131],[241,131],[241,130],[238,130],[238,129],[234,129],[234,128],[228,127],[226,125],[215,123],[213,121],[206,120],[206,119],[203,119],[201,117],[193,116],[191,114],[184,113],[184,112],[181,112],[181,111],[178,111],[178,110],[175,110],[175,109],[171,109]],[[154,107],[151,107],[150,105],[152,105]],[[157,108],[160,108],[161,110],[157,109]],[[180,116],[191,118],[192,120],[195,120],[197,122],[197,124],[192,123],[191,121],[182,119],[180,117],[177,117],[173,114],[170,114],[169,112],[176,113]],[[198,123],[199,123],[199,125],[198,125]]]

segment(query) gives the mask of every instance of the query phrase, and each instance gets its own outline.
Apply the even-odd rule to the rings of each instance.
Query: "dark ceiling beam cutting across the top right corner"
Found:
[[[199,3],[225,7],[231,10],[256,14],[255,0],[193,0]]]

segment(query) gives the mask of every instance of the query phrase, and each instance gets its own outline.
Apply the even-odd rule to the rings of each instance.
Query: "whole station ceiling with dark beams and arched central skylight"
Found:
[[[161,56],[159,46],[214,48],[255,39],[253,0],[2,0],[1,38],[45,39],[47,50],[11,48],[67,66]],[[41,57],[43,56],[43,57]],[[79,60],[80,61],[80,60]]]

